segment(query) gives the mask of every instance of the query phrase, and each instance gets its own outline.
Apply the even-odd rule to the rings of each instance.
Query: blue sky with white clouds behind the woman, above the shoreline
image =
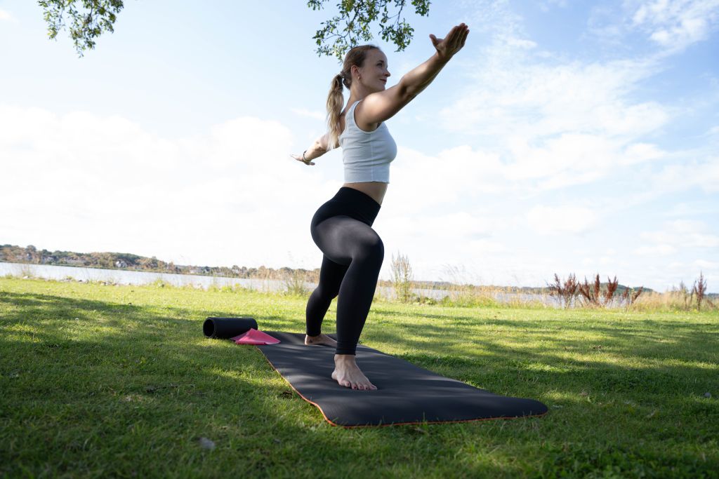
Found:
[[[380,279],[719,291],[719,0],[436,1],[388,87],[461,22],[464,48],[387,122]],[[0,0],[0,244],[175,264],[316,269],[307,166],[341,70],[333,2],[127,0],[78,57],[37,2]],[[344,101],[349,91],[344,91]]]

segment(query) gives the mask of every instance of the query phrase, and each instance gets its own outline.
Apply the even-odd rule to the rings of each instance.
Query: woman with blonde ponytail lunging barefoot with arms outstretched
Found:
[[[387,57],[374,45],[354,47],[344,57],[342,72],[331,83],[327,98],[329,131],[301,155],[291,155],[308,165],[329,149],[342,146],[344,185],[312,218],[313,241],[324,254],[319,285],[306,310],[306,345],[336,348],[332,378],[341,386],[372,390],[355,361],[357,341],[370,312],[384,246],[372,223],[380,212],[390,182],[390,162],[397,146],[385,121],[413,100],[464,47],[470,32],[464,23],[444,39],[429,35],[436,52],[397,85],[386,88],[390,76]],[[349,101],[342,110],[342,85]],[[342,111],[341,111],[342,110]],[[337,303],[337,341],[321,333],[321,324],[332,299]]]

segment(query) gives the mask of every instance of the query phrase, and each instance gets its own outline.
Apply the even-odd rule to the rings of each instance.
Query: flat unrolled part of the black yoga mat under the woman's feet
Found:
[[[330,376],[334,348],[306,346],[303,334],[267,334],[281,343],[257,348],[290,386],[335,426],[508,419],[541,416],[547,411],[539,401],[492,394],[362,345],[357,346],[357,364],[377,390],[349,389]]]

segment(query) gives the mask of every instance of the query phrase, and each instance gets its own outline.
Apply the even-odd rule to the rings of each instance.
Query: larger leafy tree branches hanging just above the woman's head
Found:
[[[309,0],[307,6],[313,10],[323,8],[329,0]],[[398,12],[390,17],[388,7],[394,3]],[[414,29],[400,19],[406,0],[342,0],[337,4],[339,16],[322,22],[324,28],[317,30],[313,39],[319,48],[318,55],[334,55],[339,61],[344,60],[344,54],[352,47],[368,42],[372,39],[370,24],[380,17],[380,36],[385,42],[393,42],[397,46],[396,52],[403,51],[412,40]],[[429,0],[412,0],[416,14],[426,17],[429,15]],[[351,17],[351,18],[350,18]],[[393,19],[395,19],[393,21]],[[344,24],[344,25],[342,25]],[[349,38],[348,38],[349,37]],[[329,39],[336,38],[331,45],[323,45]]]

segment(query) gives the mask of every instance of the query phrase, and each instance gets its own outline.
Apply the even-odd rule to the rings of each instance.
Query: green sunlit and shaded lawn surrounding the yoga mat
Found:
[[[207,316],[239,315],[302,332],[305,305],[0,279],[0,476],[719,477],[717,312],[378,300],[362,343],[549,414],[344,429],[256,348],[201,332]]]

